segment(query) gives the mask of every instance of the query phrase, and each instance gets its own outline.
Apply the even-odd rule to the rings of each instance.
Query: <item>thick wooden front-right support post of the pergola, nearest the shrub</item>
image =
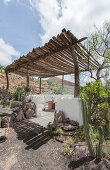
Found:
[[[79,63],[78,58],[74,52],[74,46],[71,47],[71,52],[73,56],[73,63],[74,63],[74,77],[75,77],[75,89],[74,89],[74,97],[78,97],[80,93],[80,80],[79,80]]]

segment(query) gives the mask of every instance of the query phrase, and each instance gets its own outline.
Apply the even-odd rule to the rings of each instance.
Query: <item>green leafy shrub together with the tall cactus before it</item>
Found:
[[[85,137],[91,156],[102,157],[104,140],[110,139],[110,87],[100,81],[88,83],[82,89],[83,123]],[[96,143],[96,151],[94,152]]]

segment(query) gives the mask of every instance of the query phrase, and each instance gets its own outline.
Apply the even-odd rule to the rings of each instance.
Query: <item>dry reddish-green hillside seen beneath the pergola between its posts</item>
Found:
[[[9,74],[9,89],[15,91],[18,86],[26,86],[26,78],[16,75]],[[4,70],[0,70],[0,88],[6,88],[6,76]],[[30,89],[31,94],[39,94],[39,79],[30,77]],[[42,93],[62,93],[62,80],[57,77],[49,78],[48,80],[42,80]],[[64,94],[74,93],[74,83],[64,80]]]

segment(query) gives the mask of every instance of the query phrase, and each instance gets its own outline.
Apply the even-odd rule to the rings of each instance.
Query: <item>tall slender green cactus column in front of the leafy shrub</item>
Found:
[[[89,134],[89,120],[88,120],[88,111],[87,111],[87,104],[83,94],[80,95],[81,103],[82,103],[82,116],[83,116],[83,125],[85,131],[86,142],[88,145],[88,150],[90,156],[95,157],[95,151],[92,145],[92,141]]]

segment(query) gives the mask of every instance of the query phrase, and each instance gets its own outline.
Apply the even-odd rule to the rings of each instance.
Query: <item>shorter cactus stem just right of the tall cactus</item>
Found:
[[[102,144],[104,140],[103,128],[101,126],[98,127],[99,132],[99,143],[96,145],[96,158],[101,159],[102,157]]]

